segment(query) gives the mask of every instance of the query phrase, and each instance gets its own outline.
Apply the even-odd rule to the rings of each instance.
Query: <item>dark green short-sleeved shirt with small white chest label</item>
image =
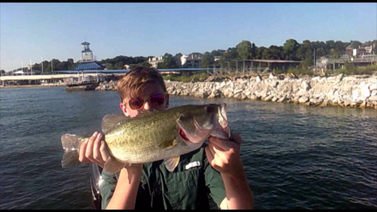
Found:
[[[181,155],[178,166],[169,172],[163,160],[143,165],[143,175],[136,196],[135,209],[209,209],[210,200],[220,206],[225,198],[224,182],[218,171],[208,163],[204,147]],[[102,172],[102,208],[106,208],[113,192],[117,174]]]

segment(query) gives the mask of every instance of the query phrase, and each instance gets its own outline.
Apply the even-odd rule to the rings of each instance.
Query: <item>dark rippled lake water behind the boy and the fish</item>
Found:
[[[376,209],[377,112],[232,99],[227,103],[256,209]],[[0,91],[0,208],[92,209],[89,166],[62,169],[60,136],[99,131],[116,91]]]

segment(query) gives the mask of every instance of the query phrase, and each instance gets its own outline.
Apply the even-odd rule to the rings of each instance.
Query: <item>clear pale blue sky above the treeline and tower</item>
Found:
[[[293,38],[377,39],[377,3],[0,3],[0,69],[81,57],[98,61],[283,46]]]

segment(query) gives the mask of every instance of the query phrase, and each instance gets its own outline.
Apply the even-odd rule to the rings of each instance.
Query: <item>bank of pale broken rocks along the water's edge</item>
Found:
[[[170,95],[200,98],[237,98],[293,102],[313,106],[377,109],[377,76],[303,77],[295,75],[243,75],[208,77],[205,81],[165,81]],[[116,90],[116,81],[100,83],[96,90]]]

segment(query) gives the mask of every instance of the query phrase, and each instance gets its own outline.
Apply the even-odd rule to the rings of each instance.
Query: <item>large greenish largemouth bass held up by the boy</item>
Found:
[[[162,159],[172,172],[180,155],[200,148],[208,137],[230,137],[225,103],[147,111],[135,118],[109,114],[103,118],[101,127],[110,153],[104,165],[109,173],[120,171],[126,164]],[[61,136],[65,151],[62,167],[79,162],[80,146],[87,139],[71,134]]]

